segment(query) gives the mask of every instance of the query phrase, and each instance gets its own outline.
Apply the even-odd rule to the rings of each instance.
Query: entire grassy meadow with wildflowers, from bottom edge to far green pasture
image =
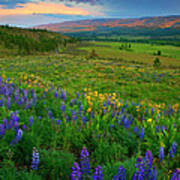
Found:
[[[83,42],[61,54],[0,59],[0,179],[179,173],[179,49],[131,45]],[[99,57],[89,58],[92,49]]]

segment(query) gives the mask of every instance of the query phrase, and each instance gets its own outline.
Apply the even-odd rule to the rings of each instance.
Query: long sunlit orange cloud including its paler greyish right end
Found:
[[[19,3],[11,8],[5,8],[6,5],[0,5],[0,15],[30,15],[30,14],[69,14],[69,15],[93,15],[103,16],[100,6],[91,6],[84,4],[72,4],[67,6],[63,2],[28,2]]]

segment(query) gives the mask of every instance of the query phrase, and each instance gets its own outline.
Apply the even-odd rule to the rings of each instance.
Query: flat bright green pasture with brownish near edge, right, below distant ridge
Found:
[[[130,49],[120,50],[122,44],[131,44]],[[161,51],[161,60],[164,66],[180,67],[180,47],[168,45],[150,45],[144,43],[118,43],[118,42],[90,42],[88,46],[80,46],[80,50],[88,53],[95,49],[101,58],[117,58],[126,61],[138,61],[152,65],[158,50]]]

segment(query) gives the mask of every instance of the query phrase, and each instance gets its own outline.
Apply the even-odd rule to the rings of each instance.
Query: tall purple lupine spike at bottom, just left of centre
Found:
[[[82,174],[84,175],[88,175],[90,173],[89,153],[85,147],[83,147],[81,151],[81,169]]]

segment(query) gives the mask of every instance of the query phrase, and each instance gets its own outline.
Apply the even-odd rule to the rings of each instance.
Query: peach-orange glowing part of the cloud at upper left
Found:
[[[19,6],[19,7],[18,7]],[[0,5],[0,15],[30,15],[33,13],[37,14],[67,14],[67,15],[90,15],[86,9],[80,7],[67,7],[62,3],[26,3],[17,4],[15,9],[2,9]]]

